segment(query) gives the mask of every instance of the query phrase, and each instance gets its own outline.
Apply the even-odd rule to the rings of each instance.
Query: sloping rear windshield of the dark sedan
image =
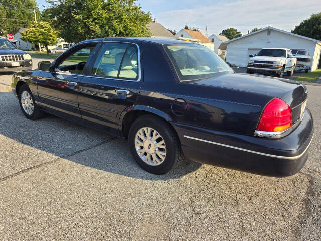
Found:
[[[212,50],[199,44],[165,44],[180,80],[209,78],[233,70]]]

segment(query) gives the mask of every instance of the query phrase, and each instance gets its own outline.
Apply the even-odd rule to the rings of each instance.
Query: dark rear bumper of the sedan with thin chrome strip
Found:
[[[308,109],[300,125],[283,138],[262,138],[172,125],[187,158],[274,177],[291,176],[301,170],[313,137],[313,119]]]

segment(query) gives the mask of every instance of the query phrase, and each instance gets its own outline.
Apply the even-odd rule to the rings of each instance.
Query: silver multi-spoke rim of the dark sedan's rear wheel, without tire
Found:
[[[164,162],[166,145],[163,137],[155,129],[143,127],[136,133],[135,148],[138,156],[145,163],[157,166]]]

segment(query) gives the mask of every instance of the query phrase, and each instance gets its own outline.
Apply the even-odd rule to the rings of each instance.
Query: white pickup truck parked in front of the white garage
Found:
[[[282,78],[285,72],[287,76],[292,76],[296,65],[296,58],[290,49],[264,48],[252,56],[246,69],[248,74],[276,74]]]

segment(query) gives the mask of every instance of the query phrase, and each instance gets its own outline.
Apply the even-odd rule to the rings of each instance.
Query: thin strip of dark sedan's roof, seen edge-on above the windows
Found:
[[[190,44],[190,42],[186,42],[183,40],[177,40],[176,38],[154,38],[154,37],[112,37],[112,38],[100,38],[100,39],[89,39],[79,42],[80,43],[91,43],[91,42],[102,42],[102,41],[130,41],[130,40],[141,40],[146,42],[153,42],[157,44]]]

